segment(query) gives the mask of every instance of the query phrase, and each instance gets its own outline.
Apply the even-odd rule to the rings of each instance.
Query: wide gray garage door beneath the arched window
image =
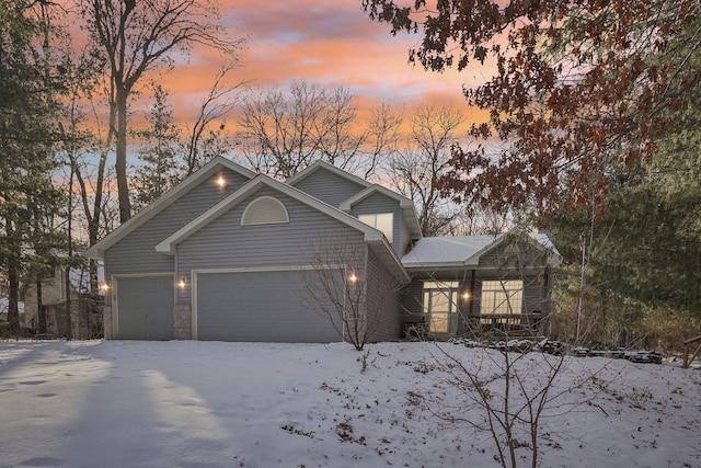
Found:
[[[329,274],[342,275],[341,271]],[[197,274],[197,339],[341,341],[331,320],[310,306],[299,270]]]

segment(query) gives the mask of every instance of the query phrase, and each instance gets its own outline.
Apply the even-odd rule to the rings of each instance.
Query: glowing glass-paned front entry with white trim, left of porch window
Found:
[[[424,282],[424,315],[432,333],[453,333],[458,317],[459,282]]]

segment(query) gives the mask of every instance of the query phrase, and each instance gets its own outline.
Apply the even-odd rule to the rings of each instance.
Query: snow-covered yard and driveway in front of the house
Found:
[[[504,363],[490,350],[440,349],[483,378]],[[466,376],[440,349],[2,342],[0,466],[495,466],[491,435],[471,425],[484,410],[448,384]],[[536,395],[558,363],[531,353],[515,375]],[[487,389],[498,408],[504,380]],[[549,398],[539,466],[701,466],[699,369],[567,358]],[[527,434],[517,437],[530,466]]]

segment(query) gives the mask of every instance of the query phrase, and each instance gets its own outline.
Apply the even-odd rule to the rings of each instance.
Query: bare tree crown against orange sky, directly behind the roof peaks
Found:
[[[289,91],[273,89],[244,99],[240,150],[256,171],[280,179],[319,159],[368,175],[393,142],[399,123],[386,105],[374,110],[370,122],[361,122],[347,88],[319,89],[302,81]]]

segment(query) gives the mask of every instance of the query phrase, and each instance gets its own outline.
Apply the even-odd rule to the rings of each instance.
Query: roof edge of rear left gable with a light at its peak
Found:
[[[245,169],[244,167],[239,165],[235,162],[230,161],[229,159],[217,157],[203,165],[199,170],[187,176],[180,184],[165,192],[153,203],[146,206],[139,213],[129,218],[129,220],[110,232],[100,242],[88,249],[83,253],[83,256],[95,260],[103,259],[105,250],[110,249],[112,246],[124,239],[136,228],[143,225],[153,216],[158,215],[161,210],[173,204],[175,201],[183,197],[186,193],[195,189],[204,180],[207,180],[208,178],[214,175],[221,168],[230,169],[246,179],[253,179],[255,176],[254,172]]]

